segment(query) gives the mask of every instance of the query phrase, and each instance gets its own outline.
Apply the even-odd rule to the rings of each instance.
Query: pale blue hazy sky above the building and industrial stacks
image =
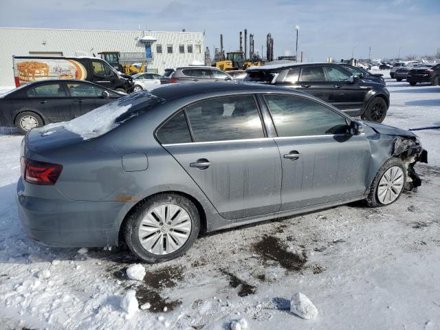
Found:
[[[395,58],[435,54],[440,50],[440,0],[393,1],[51,1],[0,0],[0,26],[206,32],[205,45],[225,51],[239,48],[239,31],[254,34],[261,52],[267,33],[274,55],[295,53],[295,25],[300,25],[298,54],[307,61],[327,56]],[[22,41],[25,42],[25,41]]]

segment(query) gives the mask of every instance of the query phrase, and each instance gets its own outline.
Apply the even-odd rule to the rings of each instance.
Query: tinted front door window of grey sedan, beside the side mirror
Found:
[[[306,98],[284,95],[265,95],[267,107],[278,136],[345,134],[347,120],[331,109]]]

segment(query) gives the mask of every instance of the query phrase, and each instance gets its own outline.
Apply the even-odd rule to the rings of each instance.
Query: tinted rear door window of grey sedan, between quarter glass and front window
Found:
[[[264,137],[253,96],[228,96],[186,108],[195,142]]]

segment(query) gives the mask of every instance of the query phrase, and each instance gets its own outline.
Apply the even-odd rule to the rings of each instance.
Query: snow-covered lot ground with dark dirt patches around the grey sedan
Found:
[[[440,87],[387,84],[386,124],[440,126]],[[416,133],[430,160],[417,166],[417,192],[385,208],[355,203],[203,236],[180,259],[144,265],[143,281],[125,275],[138,261],[124,250],[25,236],[14,200],[22,137],[0,135],[2,328],[228,329],[245,318],[249,329],[440,329],[440,130]],[[129,289],[151,307],[127,314]],[[289,311],[296,292],[316,318]]]

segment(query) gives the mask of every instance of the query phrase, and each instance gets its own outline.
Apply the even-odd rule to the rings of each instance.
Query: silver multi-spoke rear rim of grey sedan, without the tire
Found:
[[[152,254],[170,254],[188,241],[191,219],[180,206],[163,204],[149,210],[139,227],[142,247]]]

